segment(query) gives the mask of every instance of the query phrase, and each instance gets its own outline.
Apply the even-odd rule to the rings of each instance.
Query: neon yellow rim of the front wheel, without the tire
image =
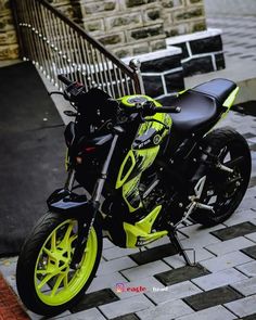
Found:
[[[38,255],[35,289],[40,300],[49,306],[60,306],[75,297],[89,279],[95,263],[98,240],[92,228],[79,268],[75,271],[69,269],[73,243],[77,238],[76,223],[68,219],[57,226]]]

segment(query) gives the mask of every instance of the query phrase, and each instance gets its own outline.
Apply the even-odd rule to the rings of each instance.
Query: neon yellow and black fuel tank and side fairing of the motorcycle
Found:
[[[140,99],[153,101],[156,106],[162,106],[148,95],[126,95],[119,100],[123,105],[129,107],[133,106],[135,101],[139,101]],[[133,103],[131,103],[131,101],[133,101]],[[139,126],[135,142],[143,139],[144,137],[149,140],[149,143],[143,148],[140,148],[140,145],[136,146],[136,143],[132,143],[130,151],[120,166],[115,187],[116,189],[123,188],[123,199],[125,200],[130,213],[133,213],[142,207],[139,194],[141,175],[153,164],[158,154],[159,144],[169,133],[170,127],[171,118],[168,114],[164,113],[156,113],[153,116],[145,117],[145,123]]]

